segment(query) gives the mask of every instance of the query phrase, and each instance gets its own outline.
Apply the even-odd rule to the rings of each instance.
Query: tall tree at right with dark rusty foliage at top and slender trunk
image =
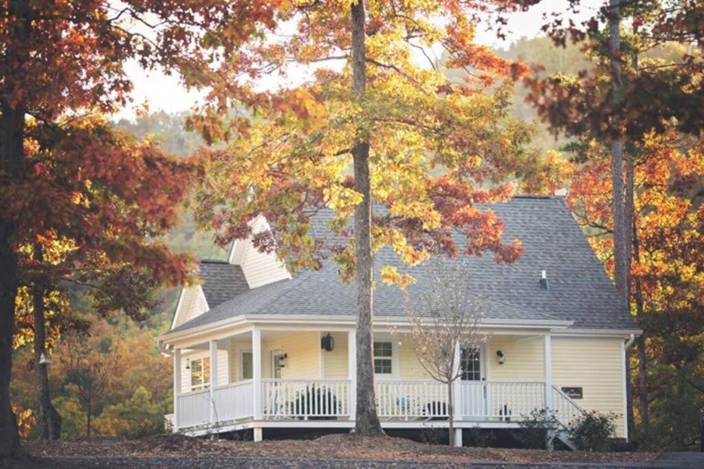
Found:
[[[579,1],[570,2],[572,8]],[[702,30],[696,20],[702,12],[698,1],[663,2],[610,0],[582,25],[555,18],[544,25],[556,44],[584,42],[596,58],[593,70],[575,76],[529,77],[528,96],[555,133],[567,136],[588,135],[611,146],[612,211],[615,220],[613,278],[624,301],[631,301],[629,273],[632,261],[631,200],[633,191],[634,150],[651,131],[674,130],[699,136],[704,125],[700,108],[704,87],[700,76],[702,62],[693,53],[701,44]],[[630,31],[624,36],[624,23]],[[670,60],[639,62],[639,54],[670,46],[686,45]],[[629,60],[630,59],[630,60]],[[643,92],[646,90],[647,92]],[[625,168],[624,168],[625,163]],[[625,172],[625,174],[624,174]],[[646,394],[645,338],[639,338],[639,385]],[[630,373],[630,369],[628,371]],[[630,383],[630,379],[628,380]],[[647,425],[647,398],[641,401],[643,423]],[[633,427],[629,399],[629,427]]]

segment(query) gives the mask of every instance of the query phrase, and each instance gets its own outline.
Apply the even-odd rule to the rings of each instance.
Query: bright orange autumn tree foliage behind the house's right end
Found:
[[[589,140],[578,148],[587,158],[574,174],[568,203],[612,271],[614,222],[605,148]],[[659,444],[681,448],[686,440],[683,435],[697,432],[696,419],[684,423],[687,420],[682,418],[695,415],[698,409],[696,399],[688,394],[704,390],[698,380],[704,345],[700,294],[704,291],[704,210],[696,200],[704,177],[704,157],[698,141],[675,131],[651,132],[635,154],[639,155],[634,161],[635,210],[629,219],[634,258],[629,274],[632,309],[645,335],[645,358],[639,356],[639,362],[649,364],[639,370],[647,387],[636,390],[639,435],[646,444],[658,439]],[[643,373],[648,373],[648,380]],[[676,414],[678,406],[672,406],[672,401],[689,405],[689,410]],[[658,418],[649,431],[646,418],[653,420],[651,407],[658,410]],[[663,434],[679,435],[679,441],[663,442]]]

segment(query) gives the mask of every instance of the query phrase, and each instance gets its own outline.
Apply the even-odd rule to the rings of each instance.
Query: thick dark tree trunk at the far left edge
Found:
[[[10,0],[7,8],[7,32],[4,35],[4,87],[0,96],[0,190],[23,176],[25,101],[21,94],[23,65],[30,43],[29,2]],[[19,99],[18,99],[19,98]],[[17,420],[10,403],[12,373],[12,338],[15,328],[15,296],[17,295],[17,255],[14,249],[15,223],[0,219],[0,458],[13,456],[20,449]]]

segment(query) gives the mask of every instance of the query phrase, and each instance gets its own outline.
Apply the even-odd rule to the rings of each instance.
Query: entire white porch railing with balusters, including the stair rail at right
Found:
[[[261,415],[267,420],[338,420],[353,418],[350,380],[263,379]],[[545,407],[545,383],[463,381],[458,419],[515,422]],[[213,390],[177,396],[177,428],[217,425],[253,417],[252,380],[218,386]],[[552,388],[551,409],[563,425],[582,409],[558,387]],[[382,420],[431,420],[448,417],[447,385],[432,380],[392,380],[375,383],[377,412]],[[213,405],[214,404],[214,405]],[[211,415],[212,414],[212,415]]]

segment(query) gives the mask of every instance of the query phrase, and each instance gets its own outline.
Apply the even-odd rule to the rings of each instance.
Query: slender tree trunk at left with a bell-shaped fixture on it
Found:
[[[35,257],[42,260],[42,247],[34,247]],[[37,282],[39,283],[39,282]],[[34,368],[37,371],[37,401],[39,401],[39,437],[41,439],[61,438],[61,416],[51,404],[49,390],[49,366],[42,363],[46,355],[46,318],[44,317],[44,288],[34,285]]]

